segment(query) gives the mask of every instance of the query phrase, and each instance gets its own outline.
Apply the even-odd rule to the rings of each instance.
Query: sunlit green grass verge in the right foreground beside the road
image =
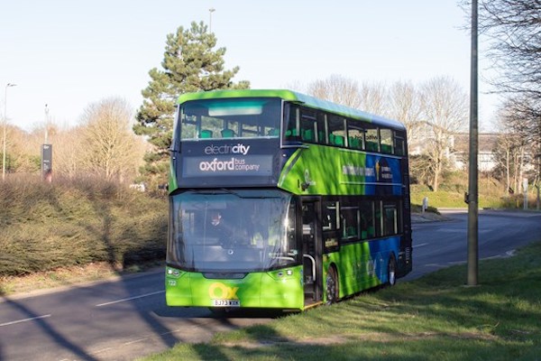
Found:
[[[539,360],[541,242],[144,360]]]

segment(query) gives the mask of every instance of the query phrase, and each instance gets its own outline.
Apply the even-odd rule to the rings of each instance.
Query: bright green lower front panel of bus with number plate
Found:
[[[206,278],[203,273],[167,267],[168,306],[242,307],[302,310],[302,266],[247,273],[242,279]]]

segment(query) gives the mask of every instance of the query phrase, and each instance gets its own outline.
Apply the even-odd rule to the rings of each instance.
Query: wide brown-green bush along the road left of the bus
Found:
[[[162,259],[167,202],[96,180],[17,180],[0,188],[0,276],[92,262]]]

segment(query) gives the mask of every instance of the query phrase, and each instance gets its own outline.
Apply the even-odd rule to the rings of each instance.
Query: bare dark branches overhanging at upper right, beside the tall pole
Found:
[[[481,0],[480,29],[491,39],[489,58],[497,76],[497,91],[519,120],[513,132],[521,134],[541,178],[541,0]]]

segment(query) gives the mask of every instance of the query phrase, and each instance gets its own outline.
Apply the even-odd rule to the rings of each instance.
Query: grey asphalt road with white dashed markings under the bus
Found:
[[[414,225],[414,271],[399,282],[465,261],[467,215],[446,212],[445,217]],[[480,212],[481,258],[506,256],[539,239],[541,214]],[[261,313],[216,319],[208,310],[168,308],[163,284],[159,270],[62,292],[4,297],[0,360],[131,360],[272,319]]]

